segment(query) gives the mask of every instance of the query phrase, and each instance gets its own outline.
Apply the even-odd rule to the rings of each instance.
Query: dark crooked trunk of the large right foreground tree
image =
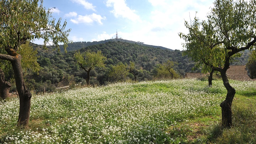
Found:
[[[232,126],[232,102],[235,96],[235,89],[229,84],[228,77],[226,76],[226,70],[220,71],[222,76],[223,84],[228,91],[226,95],[226,99],[220,103],[220,107],[222,108],[222,127],[223,128],[230,128]]]

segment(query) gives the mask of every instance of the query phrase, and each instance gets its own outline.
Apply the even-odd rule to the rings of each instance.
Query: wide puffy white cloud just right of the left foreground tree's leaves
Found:
[[[78,15],[78,17],[72,19],[71,18],[71,22],[73,23],[87,23],[87,24],[90,24],[90,23],[93,23],[93,22],[97,22],[99,23],[100,25],[103,25],[103,23],[101,22],[101,20],[105,20],[106,17],[105,16],[101,16],[101,15],[97,15],[97,14],[91,14],[91,15],[85,15],[85,16],[82,16],[82,15]]]

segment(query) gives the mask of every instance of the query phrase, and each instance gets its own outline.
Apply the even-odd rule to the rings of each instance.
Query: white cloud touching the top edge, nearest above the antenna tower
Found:
[[[125,0],[107,0],[107,7],[113,7],[111,11],[115,17],[128,18],[132,21],[140,21],[140,17],[135,14],[135,10],[131,10],[125,3]]]

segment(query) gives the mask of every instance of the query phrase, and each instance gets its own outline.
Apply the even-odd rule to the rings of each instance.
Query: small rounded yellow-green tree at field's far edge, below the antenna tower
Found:
[[[109,77],[112,78],[114,81],[124,81],[128,74],[127,66],[123,63],[118,63],[117,65],[113,66],[110,70]]]

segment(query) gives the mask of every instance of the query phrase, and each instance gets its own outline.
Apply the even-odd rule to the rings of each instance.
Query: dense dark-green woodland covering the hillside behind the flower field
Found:
[[[56,87],[68,85],[71,88],[85,85],[86,71],[77,64],[74,54],[78,50],[82,53],[87,49],[90,49],[92,52],[100,50],[107,58],[104,68],[95,68],[90,72],[91,85],[106,85],[110,82],[116,82],[109,74],[113,66],[120,63],[127,67],[130,62],[135,63],[137,81],[160,79],[161,77],[157,74],[158,71],[156,69],[167,60],[177,63],[174,70],[178,76],[175,78],[183,78],[185,73],[188,72],[200,72],[199,69],[192,70],[194,62],[189,60],[187,56],[182,56],[182,51],[180,50],[149,47],[138,42],[132,43],[132,41],[121,42],[112,40],[105,43],[102,42],[105,41],[91,42],[94,45],[87,47],[84,47],[86,42],[70,43],[68,44],[67,53],[52,50],[50,47],[43,49],[42,45],[30,43],[33,49],[38,52],[37,62],[40,65],[40,69],[38,72],[33,72],[31,69],[24,71],[27,88],[36,92],[42,92],[44,89],[46,91],[55,91]],[[242,57],[234,60],[234,65],[245,65],[247,63],[250,52],[245,51],[243,53]],[[6,80],[14,83],[12,71],[9,71],[9,75],[6,75]],[[132,81],[134,76],[128,73],[125,80]],[[11,91],[15,91],[15,89],[15,84],[12,84]]]

